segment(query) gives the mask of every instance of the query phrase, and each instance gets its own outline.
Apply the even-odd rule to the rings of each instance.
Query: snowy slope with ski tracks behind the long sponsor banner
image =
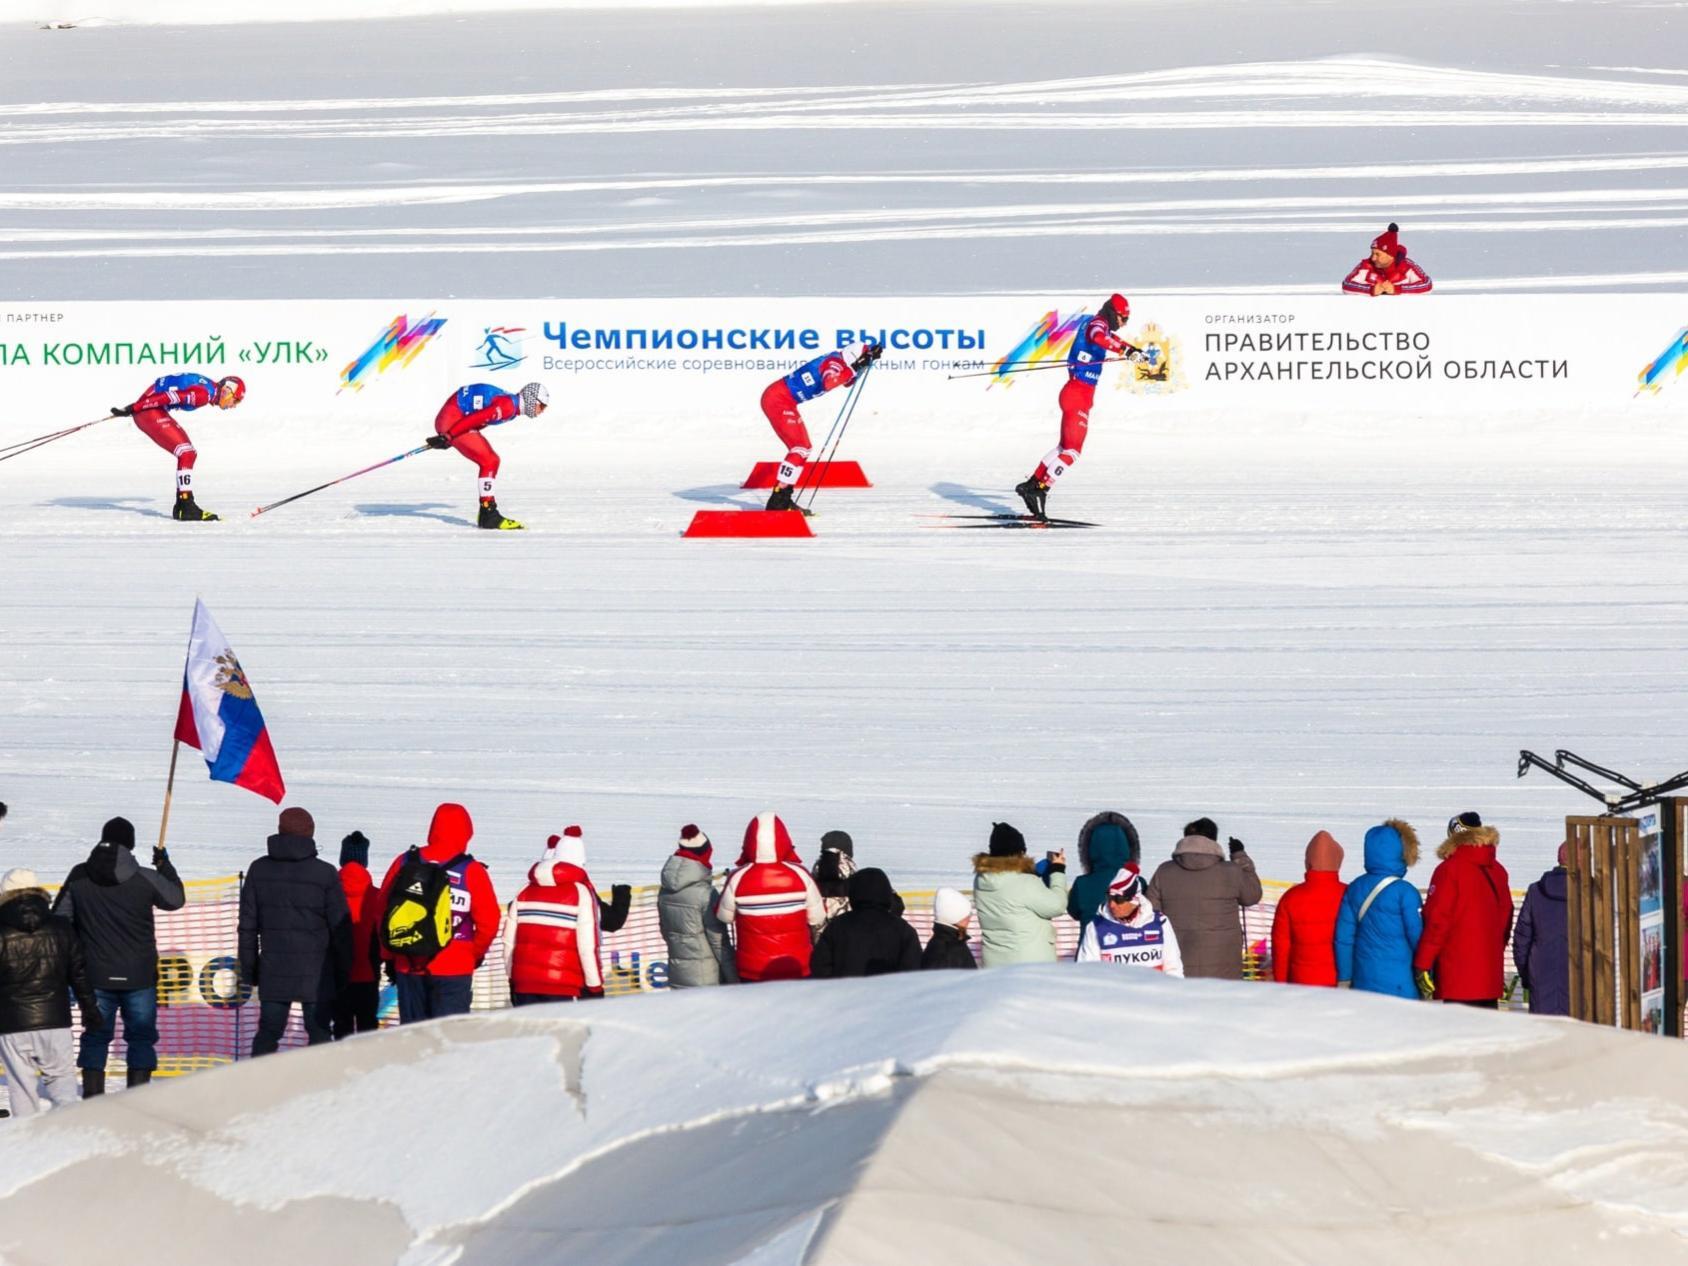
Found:
[[[1688,284],[1683,3],[20,15],[238,24],[0,25],[22,299]]]

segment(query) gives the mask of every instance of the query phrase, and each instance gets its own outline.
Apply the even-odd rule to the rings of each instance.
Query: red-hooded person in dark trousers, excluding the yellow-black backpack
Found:
[[[463,805],[444,803],[434,810],[422,859],[444,866],[451,878],[451,944],[427,960],[388,955],[398,986],[398,1023],[461,1016],[474,996],[474,969],[498,937],[498,893],[486,868],[469,854],[474,822]],[[381,879],[376,912],[387,910],[405,854],[393,858]]]

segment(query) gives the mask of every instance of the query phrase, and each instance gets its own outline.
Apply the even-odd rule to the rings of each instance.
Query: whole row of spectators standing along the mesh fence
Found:
[[[614,885],[608,901],[599,896],[584,832],[571,825],[545,842],[522,890],[501,903],[469,851],[473,836],[468,809],[442,803],[425,841],[395,856],[376,883],[361,832],[341,841],[334,866],[319,856],[311,814],[282,810],[240,893],[240,977],[260,1003],[252,1053],[279,1048],[295,1006],[311,1045],[373,1030],[383,974],[400,1023],[466,1013],[474,971],[495,942],[511,1004],[603,998],[603,937],[626,922],[631,888]],[[1367,830],[1364,866],[1350,883],[1342,879],[1342,844],[1320,830],[1307,846],[1305,879],[1276,906],[1273,979],[1496,1008],[1511,944],[1529,1009],[1568,1013],[1565,849],[1529,886],[1514,928],[1499,839],[1477,814],[1450,819],[1421,898],[1406,881],[1420,852],[1411,825],[1391,819]],[[810,868],[785,824],[760,814],[722,874],[709,836],[685,825],[657,896],[668,986],[1055,962],[1062,915],[1079,923],[1080,964],[1242,979],[1241,912],[1263,900],[1242,841],[1220,842],[1217,824],[1200,817],[1153,873],[1141,854],[1128,817],[1097,814],[1079,832],[1079,874],[1069,879],[1065,851],[1033,858],[1025,836],[998,822],[972,858],[971,895],[940,888],[922,944],[891,879],[858,863],[846,832],[822,836]],[[135,829],[122,817],[105,824],[51,900],[29,869],[0,878],[0,1065],[14,1116],[37,1112],[42,1097],[66,1104],[103,1094],[120,1023],[127,1084],[152,1079],[154,913],[184,901],[169,852],[155,847],[142,866]]]

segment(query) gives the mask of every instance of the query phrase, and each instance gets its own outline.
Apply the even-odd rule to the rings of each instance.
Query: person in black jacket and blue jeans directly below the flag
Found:
[[[88,977],[100,1004],[100,1025],[83,1030],[76,1067],[83,1070],[83,1097],[105,1094],[105,1065],[123,1016],[128,1084],[143,1085],[159,1067],[159,939],[157,910],[187,903],[170,856],[157,847],[152,866],[135,861],[135,827],[113,817],[100,830],[88,861],[71,868],[52,903],[52,913],[76,927],[88,959]]]

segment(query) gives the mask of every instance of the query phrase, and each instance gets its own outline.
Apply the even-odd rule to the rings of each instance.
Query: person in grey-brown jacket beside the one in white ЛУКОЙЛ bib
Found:
[[[1246,906],[1263,891],[1242,841],[1231,841],[1231,859],[1219,846],[1214,819],[1198,817],[1150,881],[1150,903],[1171,920],[1183,955],[1185,977],[1242,979]]]

